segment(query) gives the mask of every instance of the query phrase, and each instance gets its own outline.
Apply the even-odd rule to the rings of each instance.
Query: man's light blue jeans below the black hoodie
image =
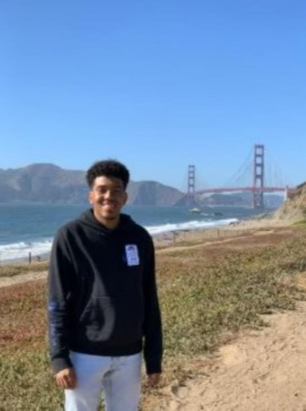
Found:
[[[96,411],[104,390],[106,411],[137,411],[141,353],[121,357],[70,352],[77,386],[65,390],[65,411]]]

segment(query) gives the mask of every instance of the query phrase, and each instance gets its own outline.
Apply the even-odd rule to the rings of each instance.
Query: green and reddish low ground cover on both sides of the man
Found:
[[[164,384],[203,372],[192,366],[203,354],[242,327],[262,326],[261,313],[293,309],[294,300],[304,298],[296,279],[306,270],[306,230],[292,233],[273,246],[158,256]],[[62,409],[48,366],[45,322],[44,281],[0,288],[0,410]]]

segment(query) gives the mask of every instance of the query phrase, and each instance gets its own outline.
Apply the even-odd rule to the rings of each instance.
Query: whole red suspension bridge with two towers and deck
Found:
[[[252,181],[250,184],[241,187],[213,187],[205,189],[195,189],[195,165],[188,165],[188,189],[186,193],[189,204],[196,203],[196,197],[203,194],[226,193],[226,192],[252,192],[253,208],[264,208],[265,192],[284,192],[285,198],[289,197],[294,187],[288,185],[266,185],[265,184],[265,146],[264,144],[254,144],[252,162]]]

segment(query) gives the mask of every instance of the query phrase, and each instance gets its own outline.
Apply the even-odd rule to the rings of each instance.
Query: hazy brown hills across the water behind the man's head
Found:
[[[129,204],[172,205],[183,197],[176,188],[156,181],[131,181]],[[65,170],[55,164],[31,164],[0,169],[0,202],[86,203],[85,172]]]

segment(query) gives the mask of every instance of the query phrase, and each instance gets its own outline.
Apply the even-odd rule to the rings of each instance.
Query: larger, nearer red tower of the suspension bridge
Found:
[[[264,187],[265,176],[265,146],[263,144],[254,145],[254,174],[253,187]],[[264,208],[264,192],[262,190],[253,191],[253,207]]]

